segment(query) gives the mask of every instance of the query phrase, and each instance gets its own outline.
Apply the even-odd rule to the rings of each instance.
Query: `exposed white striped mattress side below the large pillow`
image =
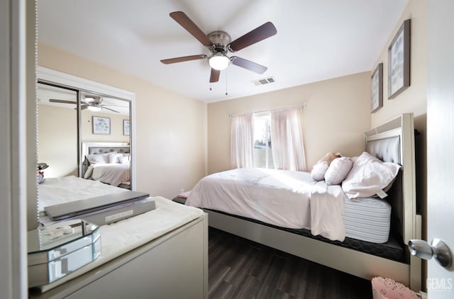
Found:
[[[389,239],[391,205],[381,198],[345,200],[343,223],[345,236],[372,243]]]

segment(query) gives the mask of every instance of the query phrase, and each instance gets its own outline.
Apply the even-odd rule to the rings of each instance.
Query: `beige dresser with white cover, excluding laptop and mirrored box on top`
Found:
[[[39,207],[116,192],[129,191],[76,176],[46,179],[39,185]],[[208,298],[206,214],[160,196],[152,199],[155,210],[100,227],[95,261],[31,288],[29,298]]]

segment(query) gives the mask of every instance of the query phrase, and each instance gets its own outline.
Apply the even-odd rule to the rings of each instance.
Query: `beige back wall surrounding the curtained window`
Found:
[[[362,152],[370,128],[370,73],[319,81],[208,105],[208,172],[230,169],[229,113],[266,111],[306,103],[301,127],[308,167],[326,152]]]

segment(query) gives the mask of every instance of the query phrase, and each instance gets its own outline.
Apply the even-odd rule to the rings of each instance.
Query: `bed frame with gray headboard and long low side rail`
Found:
[[[392,150],[394,148],[394,150]],[[402,165],[402,202],[391,203],[402,242],[421,238],[421,215],[416,214],[414,120],[412,113],[399,115],[365,132],[365,150],[384,162]],[[345,273],[372,279],[392,278],[412,290],[421,290],[421,259],[405,252],[408,262],[393,261],[357,250],[339,247],[275,227],[206,210],[209,226],[265,244]]]

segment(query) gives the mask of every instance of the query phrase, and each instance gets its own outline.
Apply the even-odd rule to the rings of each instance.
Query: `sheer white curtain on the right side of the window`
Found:
[[[275,169],[306,171],[301,108],[271,111],[272,161]]]

